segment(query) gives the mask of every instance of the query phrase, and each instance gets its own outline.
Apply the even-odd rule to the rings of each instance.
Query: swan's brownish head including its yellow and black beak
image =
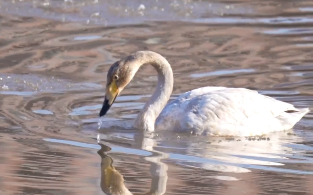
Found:
[[[139,68],[135,55],[127,56],[126,58],[116,61],[110,67],[107,74],[105,100],[99,116],[103,116],[114,103],[115,98],[131,81]]]

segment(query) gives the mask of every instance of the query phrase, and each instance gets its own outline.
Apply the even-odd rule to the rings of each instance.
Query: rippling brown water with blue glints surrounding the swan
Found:
[[[246,87],[312,110],[311,1],[0,6],[2,194],[312,194],[311,112],[264,137],[146,134],[132,128],[157,82],[146,66],[98,117],[110,65],[137,50],[168,59],[171,100]]]

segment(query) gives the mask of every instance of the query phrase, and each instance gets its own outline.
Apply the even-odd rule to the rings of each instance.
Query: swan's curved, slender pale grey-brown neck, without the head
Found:
[[[157,71],[158,82],[150,100],[137,115],[134,126],[145,131],[154,131],[156,118],[165,107],[173,90],[173,71],[168,61],[158,53],[141,51],[136,54],[138,69],[142,65],[151,64]]]

